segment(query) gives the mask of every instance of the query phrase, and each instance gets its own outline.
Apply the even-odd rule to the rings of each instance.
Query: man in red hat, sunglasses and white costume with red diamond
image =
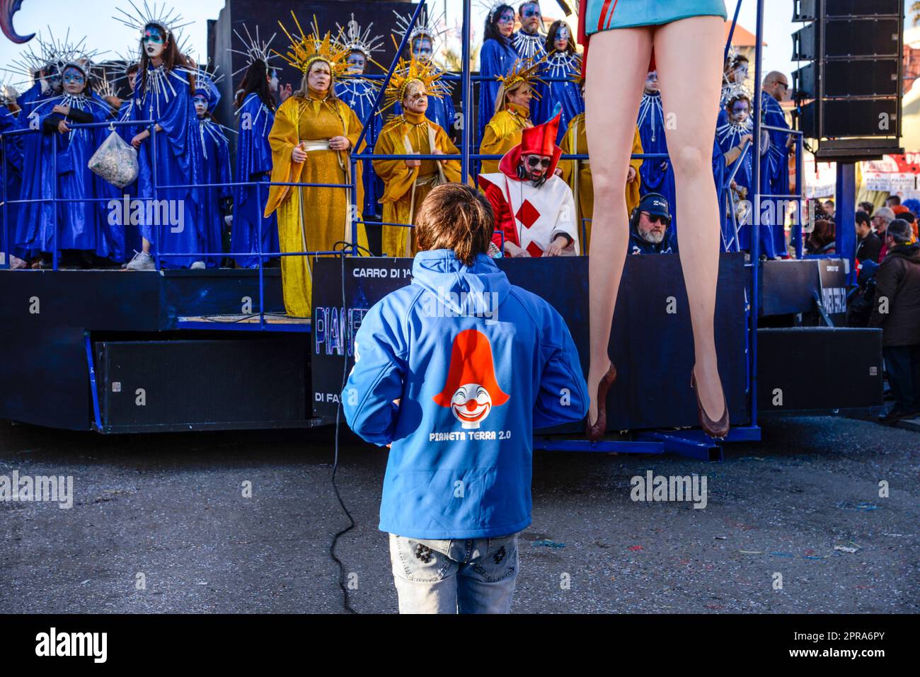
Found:
[[[552,120],[523,130],[499,171],[479,175],[479,188],[495,212],[492,242],[509,257],[578,256],[575,199],[557,169],[561,107]]]

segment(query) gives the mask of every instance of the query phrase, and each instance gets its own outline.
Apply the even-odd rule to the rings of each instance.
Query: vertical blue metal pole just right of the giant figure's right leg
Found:
[[[751,426],[757,425],[757,317],[760,315],[760,132],[764,71],[764,0],[757,0],[757,44],[754,49],[753,98],[753,228],[751,234]]]

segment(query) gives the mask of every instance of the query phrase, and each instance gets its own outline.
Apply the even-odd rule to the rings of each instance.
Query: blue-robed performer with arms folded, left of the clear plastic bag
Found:
[[[63,94],[42,101],[32,111],[40,122],[40,133],[27,134],[24,142],[22,196],[33,202],[20,206],[18,231],[25,241],[18,244],[40,250],[46,264],[55,247],[55,225],[58,251],[79,250],[85,264],[91,264],[86,255],[108,257],[118,246],[99,222],[98,204],[93,200],[99,195],[100,179],[87,167],[106,132],[104,128],[102,132],[98,128],[70,129],[74,123],[109,118],[109,107],[88,96],[87,81],[82,64],[68,63],[63,68]],[[63,201],[56,205],[40,201],[51,197]]]

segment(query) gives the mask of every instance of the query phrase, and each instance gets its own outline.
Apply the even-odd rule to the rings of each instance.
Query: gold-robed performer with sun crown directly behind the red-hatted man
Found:
[[[514,63],[512,72],[499,76],[501,85],[495,98],[495,115],[486,125],[479,143],[480,155],[505,155],[521,143],[521,132],[534,126],[530,119],[530,104],[537,96],[532,82],[542,82],[536,77],[542,61],[527,59]],[[499,171],[499,160],[483,160],[482,174]]]

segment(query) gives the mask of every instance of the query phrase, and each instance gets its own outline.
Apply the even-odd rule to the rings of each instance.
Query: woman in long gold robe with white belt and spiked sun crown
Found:
[[[354,111],[336,98],[333,88],[336,76],[347,67],[348,48],[328,32],[321,38],[316,19],[310,35],[300,28],[296,17],[294,23],[301,37],[294,39],[282,25],[291,47],[286,54],[278,53],[304,78],[275,114],[269,134],[271,182],[351,185],[350,154],[362,125]],[[360,205],[363,200],[361,163],[355,185],[354,196],[350,188],[272,186],[265,215],[278,212],[282,253],[333,251],[337,243],[351,243],[352,224],[358,218],[351,203]],[[358,224],[355,244],[367,248],[363,224]],[[310,316],[311,259],[282,257],[284,307],[289,316]]]

